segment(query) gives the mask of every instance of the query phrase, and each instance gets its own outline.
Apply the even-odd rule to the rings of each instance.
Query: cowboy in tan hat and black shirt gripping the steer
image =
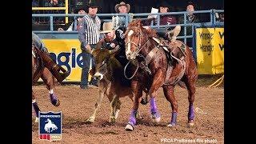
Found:
[[[102,26],[102,31],[104,38],[97,43],[97,48],[106,48],[108,50],[118,49],[118,54],[115,55],[115,58],[118,59],[118,62],[122,66],[126,66],[128,62],[126,59],[126,46],[125,46],[125,28],[119,27],[117,30],[114,28],[113,22],[104,22]]]

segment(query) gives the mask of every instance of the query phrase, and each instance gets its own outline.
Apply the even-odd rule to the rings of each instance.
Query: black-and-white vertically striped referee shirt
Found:
[[[99,30],[101,26],[101,20],[98,16],[91,17],[86,15],[79,22],[78,39],[81,42],[82,48],[87,44],[96,44],[99,41]]]

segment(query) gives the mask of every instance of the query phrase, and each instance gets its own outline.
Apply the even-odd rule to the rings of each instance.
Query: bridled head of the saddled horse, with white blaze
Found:
[[[145,42],[145,34],[142,31],[141,20],[134,20],[130,22],[126,30],[126,58],[128,60],[135,59],[139,50],[141,49],[142,43]]]

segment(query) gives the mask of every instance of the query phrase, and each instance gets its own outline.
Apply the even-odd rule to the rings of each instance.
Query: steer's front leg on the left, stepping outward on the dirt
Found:
[[[106,91],[106,82],[102,82],[100,81],[98,84],[98,98],[97,101],[95,103],[95,108],[94,108],[94,113],[90,116],[90,118],[88,118],[86,120],[86,122],[94,122],[95,118],[96,118],[96,112],[99,109],[100,105],[102,104],[102,99],[104,97],[105,91]]]

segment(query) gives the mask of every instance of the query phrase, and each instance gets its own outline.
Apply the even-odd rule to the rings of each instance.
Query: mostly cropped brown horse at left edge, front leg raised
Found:
[[[32,84],[38,82],[38,79],[42,78],[42,81],[46,84],[46,88],[50,93],[50,102],[54,106],[59,106],[60,101],[57,95],[54,94],[54,76],[50,73],[38,55],[38,49],[32,44]],[[36,114],[35,122],[38,122],[38,113],[40,111],[38,103],[36,102],[36,96],[32,90],[32,105]]]

